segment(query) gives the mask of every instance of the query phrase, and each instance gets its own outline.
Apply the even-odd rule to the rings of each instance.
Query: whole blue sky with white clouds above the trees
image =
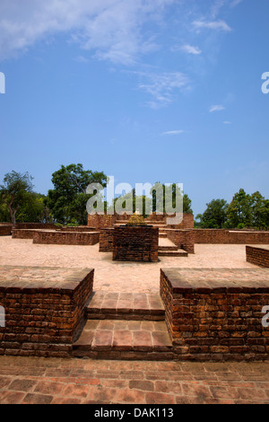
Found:
[[[1,0],[0,179],[61,164],[269,198],[268,0]]]

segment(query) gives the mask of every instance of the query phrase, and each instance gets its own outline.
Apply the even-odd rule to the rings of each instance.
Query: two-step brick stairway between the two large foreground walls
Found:
[[[73,356],[95,359],[169,360],[172,342],[158,294],[97,292]]]

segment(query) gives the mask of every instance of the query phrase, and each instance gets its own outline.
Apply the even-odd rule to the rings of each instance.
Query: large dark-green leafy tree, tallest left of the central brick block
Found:
[[[86,189],[91,183],[106,187],[107,176],[102,171],[84,170],[81,163],[61,166],[52,175],[54,189],[48,190],[47,207],[54,221],[62,224],[87,223],[86,204],[91,195]]]

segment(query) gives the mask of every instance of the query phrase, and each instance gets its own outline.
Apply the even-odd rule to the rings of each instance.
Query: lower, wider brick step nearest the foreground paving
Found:
[[[173,347],[164,321],[87,321],[73,345],[74,357],[169,360]]]

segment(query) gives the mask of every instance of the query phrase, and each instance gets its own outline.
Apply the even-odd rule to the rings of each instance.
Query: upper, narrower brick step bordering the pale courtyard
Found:
[[[96,292],[86,307],[88,320],[164,321],[159,294]]]

